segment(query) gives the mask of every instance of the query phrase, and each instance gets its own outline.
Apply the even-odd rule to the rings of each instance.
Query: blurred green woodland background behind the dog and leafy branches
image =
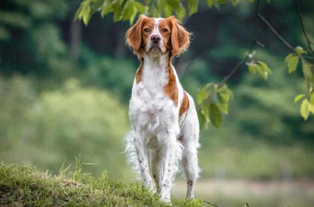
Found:
[[[2,0],[0,3],[0,159],[58,174],[75,156],[95,176],[135,179],[125,162],[128,101],[137,57],[125,45],[128,21],[95,14],[73,22],[80,0]],[[314,1],[300,0],[314,41]],[[293,0],[261,3],[261,14],[293,46],[307,43]],[[220,9],[200,2],[183,19],[194,37],[173,64],[194,98],[220,82],[245,56],[254,5]],[[243,66],[228,82],[234,92],[219,129],[201,131],[196,197],[219,206],[314,206],[314,117],[304,121],[297,94],[306,92],[301,68],[289,75],[282,42],[260,22],[256,58],[273,74],[265,81]],[[299,65],[300,66],[300,65]],[[180,178],[174,195],[184,197]],[[287,204],[286,204],[287,202]]]

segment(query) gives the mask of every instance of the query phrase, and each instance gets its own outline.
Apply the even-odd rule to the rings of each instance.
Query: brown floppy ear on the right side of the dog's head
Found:
[[[190,36],[192,33],[185,30],[174,16],[170,18],[172,29],[171,29],[171,44],[172,44],[172,55],[179,56],[181,53],[187,50],[190,45]]]

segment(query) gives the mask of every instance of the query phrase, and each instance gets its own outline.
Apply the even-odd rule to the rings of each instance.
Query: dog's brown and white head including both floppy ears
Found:
[[[148,55],[166,54],[179,56],[190,44],[190,35],[177,19],[148,18],[140,16],[137,23],[127,30],[126,42],[134,53]]]

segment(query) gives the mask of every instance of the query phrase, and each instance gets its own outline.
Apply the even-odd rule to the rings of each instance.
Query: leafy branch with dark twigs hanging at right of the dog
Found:
[[[298,16],[300,18],[304,36],[306,37],[308,41],[310,50],[314,54],[313,49],[311,48],[311,44],[313,43],[309,40],[308,35],[304,29],[304,24],[303,24],[302,16],[300,14],[298,1],[297,0],[294,0],[294,1],[296,3]],[[216,88],[210,90],[209,88],[209,86],[211,85],[210,83],[210,84],[207,84],[205,87],[203,87],[198,94],[198,104],[199,104],[198,115],[199,115],[201,124],[204,125],[205,127],[207,127],[207,124],[209,123],[209,121],[213,124],[213,126],[219,127],[222,120],[221,114],[222,113],[228,114],[228,110],[223,111],[220,106],[223,105],[224,106],[223,109],[228,109],[229,99],[227,99],[228,101],[221,102],[219,99],[215,99],[212,97],[214,97],[215,95],[217,96],[222,95],[221,91],[219,91],[219,88],[224,88],[223,91],[225,91],[226,93],[224,94],[225,96],[232,94],[231,90],[228,89],[226,82],[228,81],[230,77],[234,75],[234,73],[242,65],[244,65],[244,63],[246,63],[246,65],[248,66],[248,70],[251,73],[255,74],[256,72],[259,72],[260,75],[265,80],[267,80],[268,74],[271,74],[271,69],[267,66],[265,62],[262,62],[260,60],[251,60],[250,62],[247,62],[248,59],[251,59],[253,57],[254,54],[252,54],[252,52],[256,44],[263,46],[257,40],[258,19],[261,19],[268,26],[268,28],[283,42],[283,44],[286,45],[289,49],[291,49],[294,52],[294,53],[289,54],[285,59],[285,62],[288,63],[289,73],[296,70],[298,61],[299,59],[301,59],[303,75],[305,77],[305,81],[307,84],[308,93],[299,94],[298,96],[295,97],[294,101],[297,102],[300,99],[303,99],[301,108],[300,108],[300,114],[305,120],[309,117],[310,113],[314,114],[314,91],[313,91],[314,90],[313,89],[314,65],[306,60],[306,58],[313,59],[313,57],[305,56],[307,52],[304,51],[302,47],[297,46],[294,48],[287,41],[285,41],[284,38],[279,35],[277,30],[275,30],[272,27],[272,25],[259,13],[259,3],[260,3],[260,0],[257,0],[256,13],[255,13],[254,39],[244,59],[242,59],[220,83],[214,85]],[[206,89],[208,89],[208,92],[206,92]],[[213,107],[212,105],[216,105],[217,107]]]

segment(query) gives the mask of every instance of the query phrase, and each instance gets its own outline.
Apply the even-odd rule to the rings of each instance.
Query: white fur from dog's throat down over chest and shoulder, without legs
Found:
[[[144,55],[141,80],[139,83],[134,81],[129,116],[133,128],[140,129],[147,142],[165,132],[171,131],[175,136],[179,133],[179,106],[175,106],[174,101],[164,91],[169,81],[169,65],[168,54],[149,57]],[[179,89],[178,98],[182,100],[182,87],[178,81],[176,86]]]

